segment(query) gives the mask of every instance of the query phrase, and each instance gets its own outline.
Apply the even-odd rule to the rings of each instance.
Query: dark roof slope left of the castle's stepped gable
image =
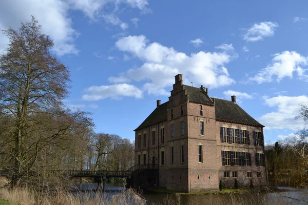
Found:
[[[140,130],[151,125],[158,124],[159,122],[167,120],[168,101],[158,106],[143,122],[136,128]],[[135,131],[135,130],[134,130]]]

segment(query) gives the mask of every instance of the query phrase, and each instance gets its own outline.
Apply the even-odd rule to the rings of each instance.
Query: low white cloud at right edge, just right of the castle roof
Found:
[[[308,100],[307,96],[277,96],[264,97],[265,105],[276,108],[276,111],[262,115],[258,121],[265,129],[303,129],[305,122],[302,118],[295,119],[299,115],[299,104]]]

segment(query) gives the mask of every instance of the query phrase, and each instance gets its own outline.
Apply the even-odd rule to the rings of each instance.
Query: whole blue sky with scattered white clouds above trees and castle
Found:
[[[11,0],[0,3],[0,29],[35,16],[71,71],[64,103],[92,112],[97,132],[133,139],[181,73],[210,96],[236,95],[265,126],[265,141],[275,141],[305,126],[295,117],[308,100],[307,4]],[[0,52],[7,44],[0,34]]]

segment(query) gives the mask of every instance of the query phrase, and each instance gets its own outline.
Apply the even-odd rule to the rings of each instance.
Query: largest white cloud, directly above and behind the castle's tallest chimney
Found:
[[[143,81],[143,89],[149,94],[168,95],[166,87],[174,84],[174,76],[184,75],[184,83],[194,81],[194,85],[205,85],[210,88],[223,87],[235,83],[224,67],[233,55],[227,52],[198,52],[189,56],[165,47],[159,43],[149,43],[144,35],[120,38],[115,46],[124,52],[144,61],[139,68],[131,68],[119,77],[110,77],[113,83],[124,83],[131,80]]]

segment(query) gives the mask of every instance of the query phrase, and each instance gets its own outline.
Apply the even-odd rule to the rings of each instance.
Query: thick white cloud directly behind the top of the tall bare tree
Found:
[[[42,25],[42,32],[50,35],[54,40],[53,51],[57,55],[78,54],[79,50],[74,45],[74,39],[79,33],[72,28],[68,10],[67,3],[60,0],[11,0],[1,4],[0,30],[9,27],[18,29],[21,21],[30,22],[31,15],[34,15],[38,23]],[[0,33],[0,39],[0,51],[5,50],[9,42],[8,38]]]

